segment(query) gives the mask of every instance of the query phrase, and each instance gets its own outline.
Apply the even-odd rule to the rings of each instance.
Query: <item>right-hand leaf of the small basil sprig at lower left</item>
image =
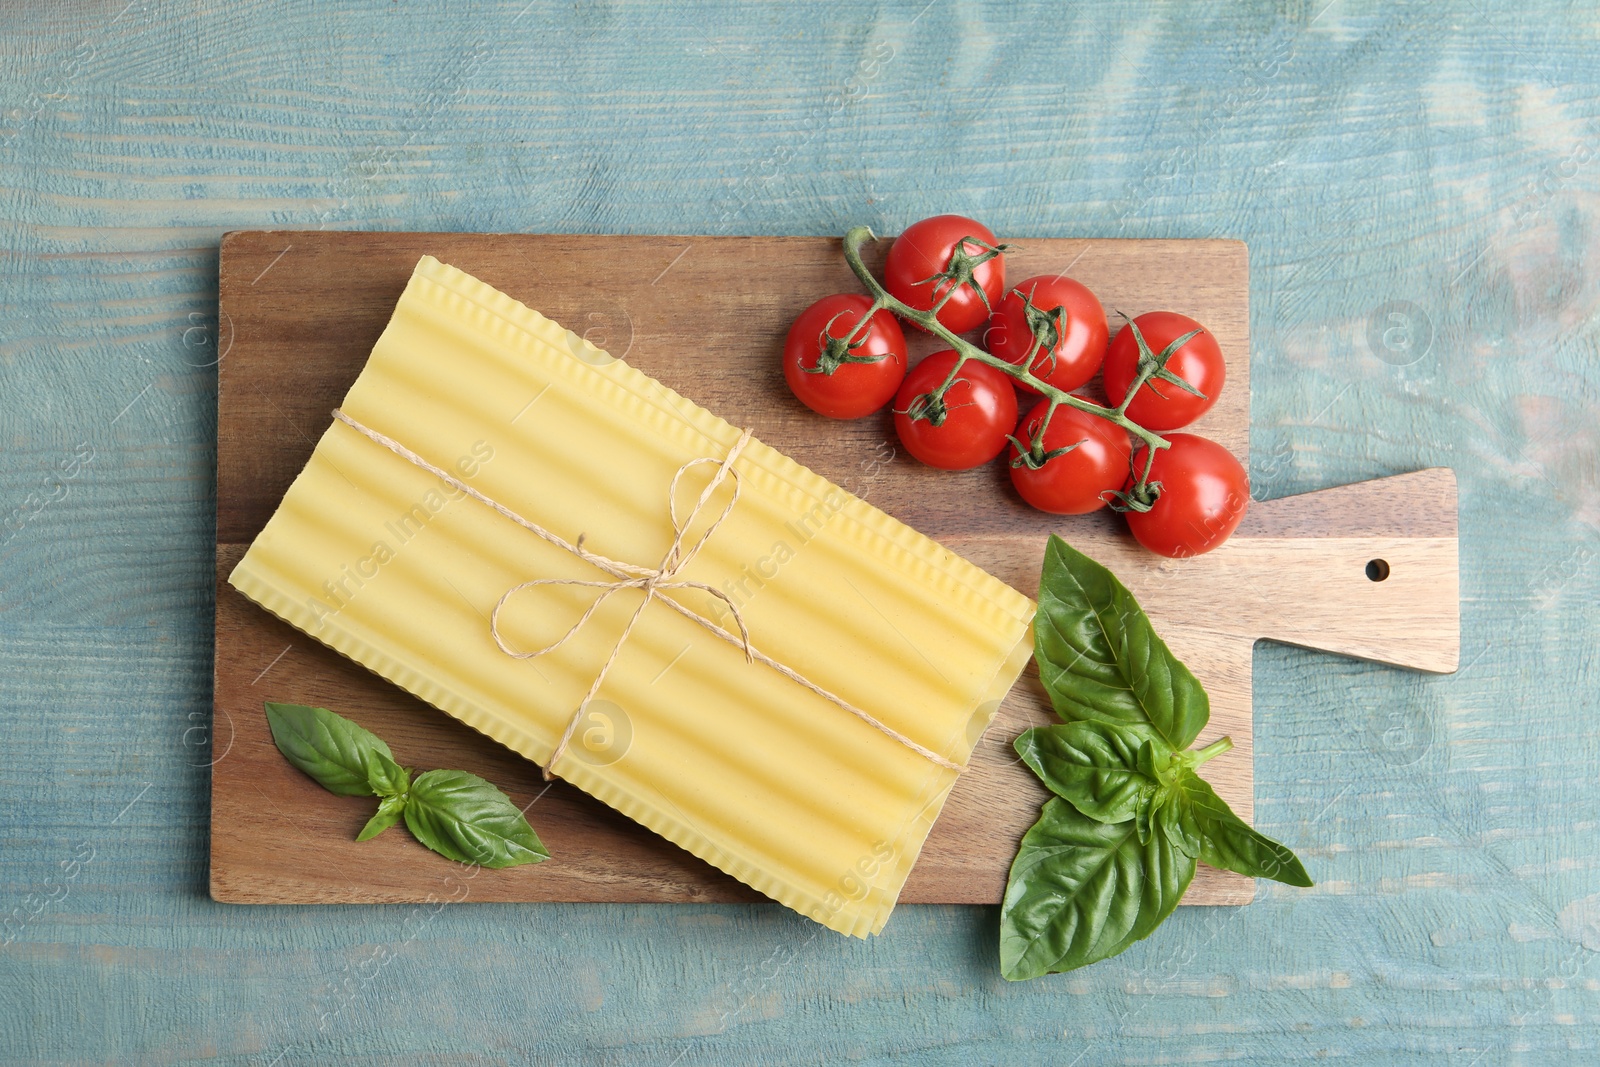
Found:
[[[499,869],[550,857],[510,797],[466,771],[418,776],[405,824],[422,845],[462,864]]]

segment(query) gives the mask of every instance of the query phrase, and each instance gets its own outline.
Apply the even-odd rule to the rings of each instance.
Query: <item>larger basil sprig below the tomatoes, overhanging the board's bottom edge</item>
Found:
[[[1299,859],[1253,830],[1195,773],[1227,737],[1189,745],[1211,718],[1200,681],[1122,582],[1061,537],[1045,550],[1034,657],[1059,726],[1016,739],[1056,793],[1022,837],[1000,907],[1011,981],[1072,971],[1147,937],[1195,862],[1309,886]]]

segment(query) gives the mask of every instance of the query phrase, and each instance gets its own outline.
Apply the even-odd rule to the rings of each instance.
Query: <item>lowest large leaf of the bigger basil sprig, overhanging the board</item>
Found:
[[[1011,862],[1002,974],[1016,982],[1117,955],[1178,907],[1194,872],[1165,833],[1141,845],[1131,821],[1096,822],[1048,800]]]

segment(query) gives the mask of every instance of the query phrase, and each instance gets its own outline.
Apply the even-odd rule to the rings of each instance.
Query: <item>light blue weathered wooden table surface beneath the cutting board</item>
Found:
[[[1597,1062],[1594,10],[672,6],[0,14],[0,1059]],[[1022,985],[994,909],[206,897],[226,230],[938,211],[1250,242],[1261,498],[1458,470],[1459,673],[1258,649],[1315,889]]]

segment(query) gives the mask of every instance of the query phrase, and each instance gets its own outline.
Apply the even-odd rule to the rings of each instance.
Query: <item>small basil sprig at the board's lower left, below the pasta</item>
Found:
[[[325,707],[267,702],[267,725],[278,752],[328,792],[379,798],[357,841],[405,819],[411,837],[456,862],[499,869],[550,857],[510,797],[477,774],[427,771],[413,781],[381,737]]]

